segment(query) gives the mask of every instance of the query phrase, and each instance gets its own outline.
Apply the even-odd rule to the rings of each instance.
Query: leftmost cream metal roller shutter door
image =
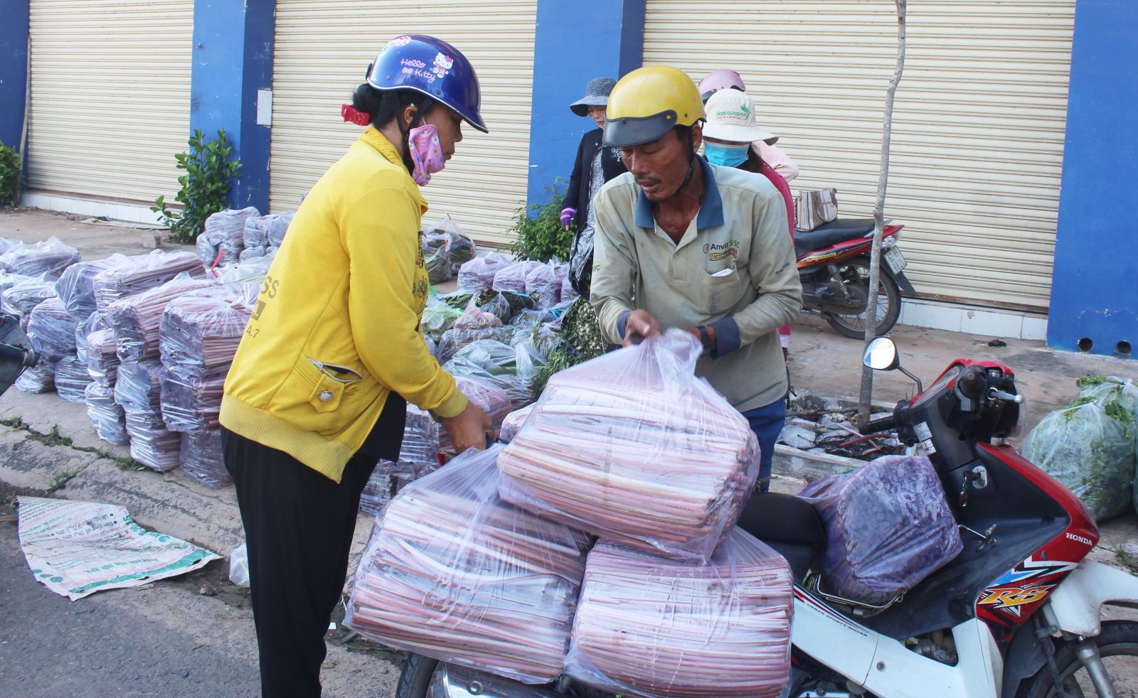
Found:
[[[30,188],[173,200],[193,0],[31,0]]]

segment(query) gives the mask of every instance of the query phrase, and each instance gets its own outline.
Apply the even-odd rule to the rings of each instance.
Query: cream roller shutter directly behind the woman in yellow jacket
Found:
[[[530,83],[537,2],[451,0],[429,11],[405,2],[278,0],[273,58],[270,208],[295,209],[360,127],[340,119],[340,103],[363,82],[368,64],[399,34],[438,36],[475,65],[490,133],[465,126],[446,169],[423,194],[424,224],[450,214],[479,241],[505,243],[526,199]]]

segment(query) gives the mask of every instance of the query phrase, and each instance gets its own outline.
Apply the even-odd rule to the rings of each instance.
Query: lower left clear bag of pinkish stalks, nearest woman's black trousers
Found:
[[[561,674],[587,538],[498,498],[498,447],[468,451],[384,509],[346,625],[525,683]]]

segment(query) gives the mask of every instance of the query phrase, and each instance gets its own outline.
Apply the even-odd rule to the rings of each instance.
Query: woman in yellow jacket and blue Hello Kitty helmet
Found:
[[[430,355],[419,192],[486,132],[478,77],[454,47],[394,39],[344,106],[369,126],[312,188],[269,269],[225,381],[225,467],[249,555],[265,696],[320,696],[323,635],[347,574],[360,493],[397,460],[406,401],[461,451],[490,421]]]

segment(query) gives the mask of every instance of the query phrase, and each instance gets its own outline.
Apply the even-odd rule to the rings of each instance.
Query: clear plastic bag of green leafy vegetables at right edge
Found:
[[[1087,505],[1095,521],[1122,514],[1133,501],[1135,424],[1119,402],[1077,399],[1036,425],[1023,456]]]

